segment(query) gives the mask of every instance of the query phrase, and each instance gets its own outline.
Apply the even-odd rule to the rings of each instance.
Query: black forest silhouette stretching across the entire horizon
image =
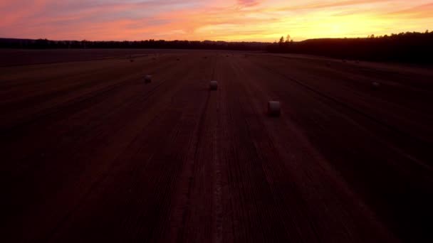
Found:
[[[295,42],[287,36],[277,43],[226,41],[49,41],[0,38],[0,48],[153,48],[261,50],[269,53],[323,55],[348,60],[433,63],[433,32],[407,32],[367,38],[322,38]]]

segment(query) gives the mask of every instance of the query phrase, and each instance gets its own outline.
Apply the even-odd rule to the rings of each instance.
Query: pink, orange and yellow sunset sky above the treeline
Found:
[[[432,0],[0,0],[0,37],[295,41],[433,31]]]

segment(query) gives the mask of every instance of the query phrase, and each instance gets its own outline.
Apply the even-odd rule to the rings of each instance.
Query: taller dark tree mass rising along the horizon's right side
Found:
[[[323,38],[301,42],[289,38],[268,45],[270,53],[323,55],[348,60],[433,63],[433,32],[425,31],[367,36],[367,38]]]

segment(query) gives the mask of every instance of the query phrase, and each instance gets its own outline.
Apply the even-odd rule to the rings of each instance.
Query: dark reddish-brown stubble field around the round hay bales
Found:
[[[432,239],[432,70],[121,55],[0,68],[1,242]]]

